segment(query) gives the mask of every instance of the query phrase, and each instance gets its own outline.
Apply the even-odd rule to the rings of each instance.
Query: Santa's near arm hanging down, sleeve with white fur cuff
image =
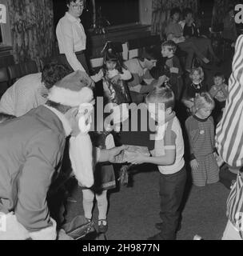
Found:
[[[37,240],[56,238],[56,227],[50,218],[46,194],[55,166],[62,158],[58,140],[52,131],[36,134],[27,145],[26,161],[17,181],[16,217],[29,231],[30,237]]]

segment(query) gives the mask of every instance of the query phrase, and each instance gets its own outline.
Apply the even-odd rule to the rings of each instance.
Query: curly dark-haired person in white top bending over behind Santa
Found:
[[[27,74],[19,78],[2,95],[0,112],[20,117],[45,104],[48,90],[70,73],[71,70],[66,66],[51,62],[44,66],[42,73]]]

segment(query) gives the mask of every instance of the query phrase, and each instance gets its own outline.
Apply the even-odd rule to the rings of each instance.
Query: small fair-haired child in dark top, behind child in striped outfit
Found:
[[[194,98],[197,94],[208,91],[208,86],[204,82],[204,72],[201,67],[193,68],[189,74],[191,82],[185,86],[182,102],[188,108],[189,113],[192,113],[194,106]]]

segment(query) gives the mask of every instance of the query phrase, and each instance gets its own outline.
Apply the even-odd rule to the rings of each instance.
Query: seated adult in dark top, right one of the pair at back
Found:
[[[183,11],[183,17],[184,20],[179,23],[183,29],[185,40],[193,42],[201,50],[202,54],[207,56],[209,53],[215,62],[219,62],[219,59],[214,54],[210,39],[200,35],[200,30],[193,19],[193,10],[186,8]]]

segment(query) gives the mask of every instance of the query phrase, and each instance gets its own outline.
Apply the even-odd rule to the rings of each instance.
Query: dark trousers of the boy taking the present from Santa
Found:
[[[161,239],[175,240],[181,217],[180,206],[185,190],[186,170],[183,167],[176,174],[160,175],[160,196],[162,220]]]

